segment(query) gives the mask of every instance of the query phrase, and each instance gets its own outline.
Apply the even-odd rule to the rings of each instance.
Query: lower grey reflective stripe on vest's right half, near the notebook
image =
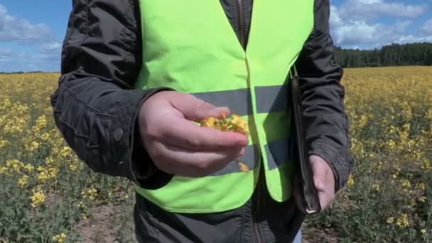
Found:
[[[274,170],[294,158],[293,136],[279,141],[271,141],[264,146],[267,154],[269,170]]]

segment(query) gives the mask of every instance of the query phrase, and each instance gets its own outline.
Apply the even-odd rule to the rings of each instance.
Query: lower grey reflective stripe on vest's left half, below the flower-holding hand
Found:
[[[244,148],[244,156],[238,158],[236,161],[232,161],[225,166],[225,168],[222,168],[220,171],[216,171],[215,173],[211,173],[208,176],[215,176],[215,175],[226,175],[230,173],[238,173],[243,172],[240,170],[238,161],[244,163],[249,168],[249,171],[253,171],[256,166],[257,161],[257,151],[258,147],[256,145],[249,145],[246,148]]]

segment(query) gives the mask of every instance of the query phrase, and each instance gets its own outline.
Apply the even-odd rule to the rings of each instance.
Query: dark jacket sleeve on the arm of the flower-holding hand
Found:
[[[141,146],[136,119],[159,90],[134,90],[141,67],[136,0],[75,0],[63,41],[61,76],[51,95],[55,124],[93,171],[158,188],[159,171]]]

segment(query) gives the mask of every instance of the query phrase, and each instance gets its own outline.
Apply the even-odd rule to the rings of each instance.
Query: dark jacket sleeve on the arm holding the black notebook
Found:
[[[315,0],[315,25],[303,46],[296,68],[301,84],[301,107],[306,126],[308,154],[329,163],[340,190],[352,170],[348,121],[340,84],[342,68],[335,62],[330,38],[329,0]]]

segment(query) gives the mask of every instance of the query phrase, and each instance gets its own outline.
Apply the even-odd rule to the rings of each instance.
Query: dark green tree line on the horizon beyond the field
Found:
[[[335,58],[343,68],[432,65],[432,43],[392,44],[374,50],[336,47]]]

